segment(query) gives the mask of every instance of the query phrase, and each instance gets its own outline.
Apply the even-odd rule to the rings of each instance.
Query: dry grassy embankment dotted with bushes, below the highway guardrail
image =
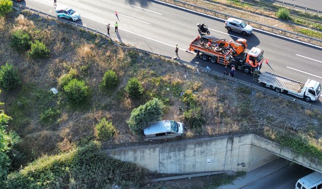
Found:
[[[261,118],[322,135],[321,112],[28,12],[0,19],[0,176],[9,188],[149,188],[154,174],[100,153],[146,144],[149,121],[183,121],[187,138],[236,133]]]

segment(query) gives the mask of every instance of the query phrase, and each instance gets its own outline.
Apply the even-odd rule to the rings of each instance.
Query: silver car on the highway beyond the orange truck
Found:
[[[236,18],[228,18],[225,22],[225,28],[228,31],[236,31],[243,35],[250,35],[253,32],[252,26]]]

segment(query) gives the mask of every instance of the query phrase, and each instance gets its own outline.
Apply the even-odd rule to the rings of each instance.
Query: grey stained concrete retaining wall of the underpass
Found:
[[[321,167],[309,159],[253,134],[108,149],[104,153],[137,163],[150,171],[169,174],[227,170],[248,172],[278,156],[321,171]]]

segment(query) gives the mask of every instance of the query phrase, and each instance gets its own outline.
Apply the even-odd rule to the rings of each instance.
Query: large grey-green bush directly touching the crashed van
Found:
[[[144,105],[134,108],[130,120],[127,121],[131,132],[140,135],[149,122],[161,120],[163,106],[162,101],[153,98]]]

